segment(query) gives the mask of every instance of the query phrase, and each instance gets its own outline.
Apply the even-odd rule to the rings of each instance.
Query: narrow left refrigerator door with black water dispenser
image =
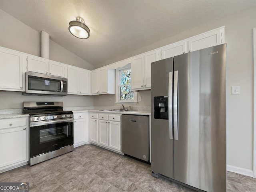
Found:
[[[154,97],[172,100],[172,69],[173,58],[167,58],[151,63],[151,167],[155,174],[162,174],[173,178],[173,140],[172,136],[172,109],[166,114],[154,118]],[[165,101],[166,102],[166,101]],[[171,108],[172,102],[169,102]],[[157,107],[164,110],[164,102]],[[161,111],[160,111],[161,113]],[[164,113],[164,111],[162,111]],[[170,124],[170,127],[169,127]],[[170,129],[169,129],[170,128]]]

